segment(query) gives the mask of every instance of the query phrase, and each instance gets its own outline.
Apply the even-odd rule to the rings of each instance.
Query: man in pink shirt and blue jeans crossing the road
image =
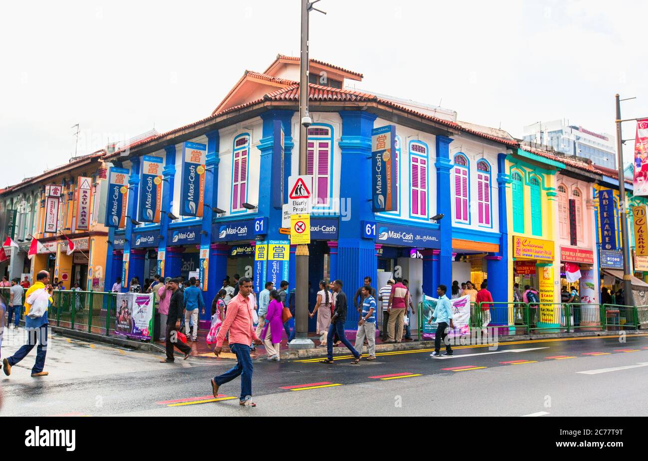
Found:
[[[229,350],[237,356],[237,365],[220,376],[211,380],[211,389],[214,398],[218,398],[218,388],[229,383],[237,376],[241,377],[241,395],[238,399],[240,405],[256,407],[252,398],[252,359],[249,355],[249,344],[261,344],[261,340],[254,331],[252,310],[250,308],[249,294],[252,293],[252,279],[242,277],[238,280],[238,294],[227,304],[227,317],[220,327],[216,337],[214,354],[220,355],[223,350],[223,341],[229,331]]]

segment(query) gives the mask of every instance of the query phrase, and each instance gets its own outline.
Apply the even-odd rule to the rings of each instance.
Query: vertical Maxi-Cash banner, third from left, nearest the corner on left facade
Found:
[[[182,147],[182,183],[180,188],[180,214],[202,217],[205,197],[205,161],[207,146],[198,142],[185,142]]]

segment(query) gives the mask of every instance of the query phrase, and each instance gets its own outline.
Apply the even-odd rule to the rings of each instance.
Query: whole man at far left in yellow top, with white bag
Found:
[[[49,297],[47,296],[49,295]],[[40,271],[36,275],[36,283],[25,293],[25,328],[27,344],[16,351],[16,354],[3,359],[3,371],[6,376],[11,374],[11,367],[24,359],[38,343],[36,363],[32,368],[32,377],[47,376],[43,371],[45,355],[47,354],[47,308],[52,305],[52,286],[49,284],[49,272]],[[34,309],[32,309],[32,305]],[[31,312],[30,312],[31,310]]]

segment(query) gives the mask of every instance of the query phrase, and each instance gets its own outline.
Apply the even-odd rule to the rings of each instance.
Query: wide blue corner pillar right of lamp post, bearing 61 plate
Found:
[[[375,240],[361,237],[361,221],[373,221],[371,208],[371,129],[376,115],[365,111],[340,111],[342,136],[340,141],[340,200],[348,200],[353,219],[340,220],[338,238],[337,278],[349,298],[349,315],[345,328],[356,330],[358,316],[354,315],[351,298],[362,286],[365,276],[376,280],[377,258]]]

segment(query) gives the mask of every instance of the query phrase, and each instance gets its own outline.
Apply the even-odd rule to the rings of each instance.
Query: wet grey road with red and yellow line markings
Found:
[[[3,357],[21,344],[6,330]],[[1,416],[646,416],[648,334],[534,339],[457,346],[449,358],[430,348],[379,352],[351,365],[338,355],[254,363],[258,407],[238,405],[240,379],[209,379],[231,359],[163,354],[51,336],[45,369],[32,378],[35,351],[0,374]]]

